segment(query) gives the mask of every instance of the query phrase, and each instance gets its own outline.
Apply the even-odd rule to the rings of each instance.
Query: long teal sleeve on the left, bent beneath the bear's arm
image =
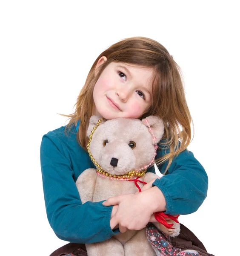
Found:
[[[51,228],[58,238],[74,243],[109,239],[119,233],[119,230],[112,231],[110,227],[112,206],[103,206],[103,201],[81,203],[74,181],[77,177],[74,177],[73,163],[65,152],[67,154],[67,149],[63,148],[57,136],[43,136],[40,163],[46,212]],[[85,160],[82,162],[86,165]]]

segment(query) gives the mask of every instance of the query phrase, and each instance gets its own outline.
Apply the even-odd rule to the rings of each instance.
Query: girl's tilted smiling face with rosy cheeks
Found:
[[[96,69],[106,60],[101,57]],[[111,62],[94,86],[94,114],[105,119],[139,118],[151,104],[152,77],[152,68]]]

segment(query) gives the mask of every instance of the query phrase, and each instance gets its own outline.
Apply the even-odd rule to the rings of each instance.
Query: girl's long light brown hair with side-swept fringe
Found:
[[[100,65],[95,76],[97,61],[102,56],[106,56],[107,60]],[[77,141],[86,150],[86,143],[88,142],[86,125],[94,111],[94,85],[105,67],[113,61],[139,64],[154,70],[151,105],[139,119],[150,115],[159,116],[163,119],[165,132],[162,140],[164,142],[159,145],[160,148],[162,148],[161,146],[169,147],[170,152],[156,159],[155,163],[160,164],[169,160],[164,172],[166,173],[173,158],[185,150],[191,142],[192,118],[186,103],[180,67],[163,45],[150,38],[131,37],[123,39],[111,45],[97,57],[77,97],[74,113],[70,115],[60,114],[70,119],[65,133],[68,128],[71,128],[81,119],[77,131]]]

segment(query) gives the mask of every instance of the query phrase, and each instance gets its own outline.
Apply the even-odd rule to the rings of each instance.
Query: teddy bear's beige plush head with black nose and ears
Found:
[[[89,150],[94,160],[106,172],[123,175],[149,165],[154,158],[154,145],[161,140],[164,133],[163,121],[160,118],[148,116],[143,120],[103,119],[94,130],[99,119],[100,116],[91,116],[89,120],[88,136],[94,131]]]

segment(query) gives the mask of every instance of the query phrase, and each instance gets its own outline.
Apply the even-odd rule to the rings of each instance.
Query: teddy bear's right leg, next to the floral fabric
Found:
[[[132,237],[126,244],[123,245],[124,247],[124,255],[125,256],[155,256],[156,253],[154,252],[149,240],[147,239],[146,235],[146,228],[138,231],[137,234]]]

